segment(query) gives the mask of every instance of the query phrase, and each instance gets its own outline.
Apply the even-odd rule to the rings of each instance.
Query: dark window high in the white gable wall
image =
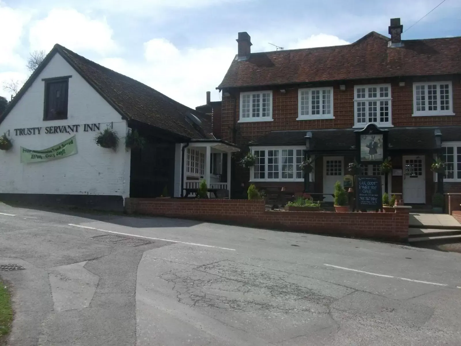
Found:
[[[69,78],[45,80],[45,109],[43,120],[67,119]]]

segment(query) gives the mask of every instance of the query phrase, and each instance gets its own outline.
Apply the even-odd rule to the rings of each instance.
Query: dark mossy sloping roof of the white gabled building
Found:
[[[57,44],[55,48],[128,119],[191,139],[214,139],[209,115],[186,107],[146,84],[96,64],[63,46]],[[194,124],[187,113],[199,118],[201,125]]]

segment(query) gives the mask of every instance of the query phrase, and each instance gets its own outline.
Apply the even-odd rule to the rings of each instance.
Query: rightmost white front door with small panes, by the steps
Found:
[[[403,156],[403,202],[426,203],[424,156]]]

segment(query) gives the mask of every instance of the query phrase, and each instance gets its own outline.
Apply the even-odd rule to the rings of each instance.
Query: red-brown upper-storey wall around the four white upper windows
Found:
[[[453,85],[453,108],[456,116],[412,117],[413,109],[413,81],[451,80]],[[400,87],[399,82],[405,86]],[[298,88],[297,86],[278,86],[272,88],[272,118],[269,122],[236,123],[236,143],[244,144],[249,140],[265,135],[274,130],[314,130],[350,128],[354,126],[354,85],[390,83],[392,88],[392,123],[394,126],[433,126],[433,125],[461,125],[461,84],[459,76],[431,77],[431,78],[401,78],[377,79],[367,81],[334,82],[323,84],[333,85],[333,113],[335,119],[323,120],[296,120],[298,117]],[[346,90],[339,90],[339,84],[345,84]],[[320,86],[320,85],[313,85]],[[271,89],[271,88],[263,88]],[[285,89],[281,93],[280,89]],[[245,90],[247,91],[247,90]],[[235,91],[234,91],[235,92]],[[222,136],[232,141],[234,117],[239,119],[238,90],[234,96],[223,96],[222,105]],[[236,113],[234,113],[234,104]]]

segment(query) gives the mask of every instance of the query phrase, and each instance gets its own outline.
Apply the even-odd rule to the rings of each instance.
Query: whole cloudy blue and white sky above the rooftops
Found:
[[[215,90],[234,58],[237,32],[252,51],[268,42],[308,48],[388,35],[389,19],[414,24],[441,0],[0,0],[0,95],[27,79],[34,50],[59,43],[195,107]],[[404,39],[461,36],[461,1],[446,0]]]

